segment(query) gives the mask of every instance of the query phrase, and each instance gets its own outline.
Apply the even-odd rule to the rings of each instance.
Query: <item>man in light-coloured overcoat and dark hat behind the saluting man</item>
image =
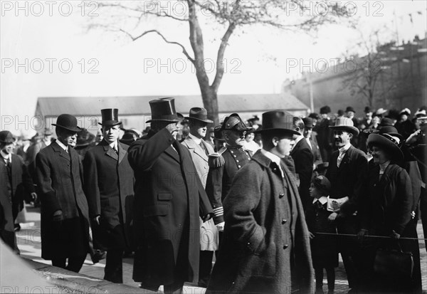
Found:
[[[213,121],[208,120],[208,112],[201,107],[191,108],[189,116],[185,118],[189,121],[190,133],[181,144],[189,149],[201,184],[206,187],[206,179],[209,173],[209,154],[214,153],[214,148],[204,141],[204,137],[206,137],[207,125]],[[201,221],[200,233],[198,285],[206,288],[211,275],[214,251],[218,250],[218,229],[216,229],[214,221],[209,219],[205,223]]]

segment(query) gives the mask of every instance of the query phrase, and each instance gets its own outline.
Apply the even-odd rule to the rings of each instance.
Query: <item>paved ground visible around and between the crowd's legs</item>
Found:
[[[153,293],[149,290],[139,288],[139,283],[132,280],[133,258],[123,259],[123,284],[114,284],[102,280],[104,276],[105,259],[93,264],[90,256],[86,258],[80,273],[65,271],[61,268],[51,266],[51,261],[41,258],[41,235],[40,235],[40,211],[30,205],[26,206],[26,223],[21,224],[21,231],[17,232],[18,246],[21,257],[28,260],[28,268],[32,268],[39,276],[42,276],[50,283],[58,285],[60,292],[65,293]],[[421,224],[418,223],[418,238],[423,238]],[[423,241],[419,242],[421,253],[421,275],[423,277],[423,293],[427,293],[427,251]],[[1,259],[4,263],[4,259]],[[1,268],[4,268],[2,264]],[[349,290],[347,275],[344,271],[341,258],[339,267],[335,270],[335,293],[347,293]],[[0,271],[0,280],[4,271]],[[324,290],[327,292],[327,280],[325,274]],[[184,293],[203,294],[205,288],[196,287],[191,283],[184,285]],[[3,291],[2,291],[3,292]],[[16,291],[15,291],[16,292]],[[11,293],[11,292],[9,292]],[[56,293],[56,291],[45,291],[35,293]],[[162,287],[158,293],[163,293]]]

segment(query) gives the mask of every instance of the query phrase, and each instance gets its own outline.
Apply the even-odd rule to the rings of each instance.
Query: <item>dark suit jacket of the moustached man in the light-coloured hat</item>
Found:
[[[351,146],[337,167],[339,150],[332,153],[326,177],[331,182],[330,198],[349,197],[341,206],[341,216],[351,216],[366,196],[368,160],[366,154]]]

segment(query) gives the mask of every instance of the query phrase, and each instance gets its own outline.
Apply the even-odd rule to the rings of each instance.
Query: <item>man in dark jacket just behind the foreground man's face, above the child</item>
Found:
[[[288,119],[291,119],[292,115],[288,113]],[[315,162],[314,156],[312,153],[312,147],[309,145],[309,142],[305,140],[304,137],[304,122],[300,117],[292,117],[292,125],[295,132],[298,135],[294,135],[293,139],[295,140],[295,145],[290,152],[290,156],[295,164],[295,172],[300,178],[300,197],[302,206],[307,209],[307,206],[310,204],[310,182],[313,174],[313,163]]]

